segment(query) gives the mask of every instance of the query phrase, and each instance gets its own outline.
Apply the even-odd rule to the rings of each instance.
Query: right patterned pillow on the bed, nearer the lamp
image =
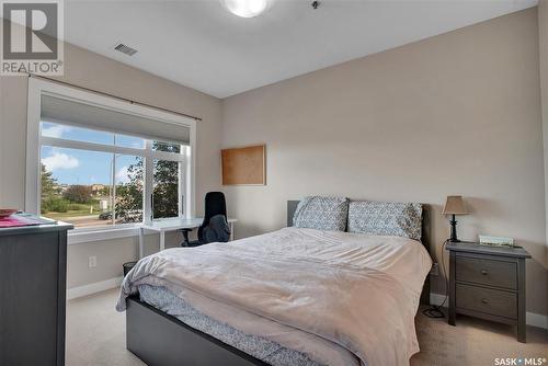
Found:
[[[351,202],[349,232],[421,240],[422,205],[372,201]]]

